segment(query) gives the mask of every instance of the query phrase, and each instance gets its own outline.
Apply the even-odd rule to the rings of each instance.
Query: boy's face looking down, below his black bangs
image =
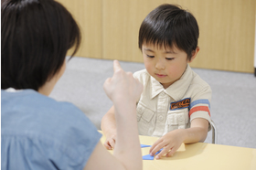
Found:
[[[187,53],[176,47],[158,48],[155,45],[143,44],[144,66],[148,73],[158,80],[166,89],[179,80],[187,68]],[[197,51],[197,50],[196,50]],[[197,53],[197,52],[196,52]],[[196,54],[197,55],[197,54]]]

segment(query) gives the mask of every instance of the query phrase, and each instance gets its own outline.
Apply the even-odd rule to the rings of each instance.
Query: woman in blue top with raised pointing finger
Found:
[[[135,102],[143,87],[132,73],[114,61],[104,83],[117,112],[110,154],[83,112],[48,98],[68,49],[73,56],[80,46],[67,9],[53,0],[2,0],[1,15],[2,169],[141,169]]]

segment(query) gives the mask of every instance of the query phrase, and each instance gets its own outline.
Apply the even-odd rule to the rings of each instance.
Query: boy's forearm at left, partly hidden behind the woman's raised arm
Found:
[[[107,149],[113,149],[116,140],[116,124],[114,117],[114,106],[102,117],[101,130],[106,136],[103,144]]]

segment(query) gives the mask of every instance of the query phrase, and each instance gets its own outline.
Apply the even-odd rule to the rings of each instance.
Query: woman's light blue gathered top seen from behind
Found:
[[[35,90],[1,90],[1,97],[2,169],[86,165],[101,133],[77,107]]]

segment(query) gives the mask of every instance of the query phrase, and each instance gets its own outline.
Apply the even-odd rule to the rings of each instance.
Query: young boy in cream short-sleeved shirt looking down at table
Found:
[[[139,48],[144,70],[133,77],[144,84],[137,102],[137,122],[142,135],[159,136],[150,149],[156,159],[170,156],[181,143],[204,142],[210,112],[211,89],[189,67],[199,48],[197,20],[177,5],[160,5],[144,18],[139,32]],[[114,107],[103,117],[104,145],[114,147],[116,127]]]

